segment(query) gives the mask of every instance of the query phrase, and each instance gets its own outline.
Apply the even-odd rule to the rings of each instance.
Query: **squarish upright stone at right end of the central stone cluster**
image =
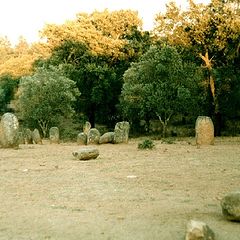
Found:
[[[128,143],[129,122],[118,122],[114,129],[114,143]]]

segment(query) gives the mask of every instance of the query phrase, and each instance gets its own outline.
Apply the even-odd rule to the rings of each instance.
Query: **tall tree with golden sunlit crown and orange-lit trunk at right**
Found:
[[[211,115],[216,117],[216,129],[220,125],[217,116],[223,111],[220,98],[223,91],[232,85],[226,75],[221,78],[218,72],[232,69],[233,64],[237,68],[239,65],[236,64],[240,54],[238,2],[212,0],[210,4],[203,5],[189,0],[190,7],[186,11],[181,11],[176,4],[170,3],[166,13],[156,17],[154,32],[159,39],[174,46],[190,48],[192,54],[202,60],[206,73],[206,91],[211,93],[212,98],[209,109],[212,109]],[[216,132],[219,135],[220,129]]]

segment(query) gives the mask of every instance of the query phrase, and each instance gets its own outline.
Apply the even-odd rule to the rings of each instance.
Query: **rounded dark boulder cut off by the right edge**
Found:
[[[240,191],[228,193],[221,200],[221,207],[228,220],[240,222]]]

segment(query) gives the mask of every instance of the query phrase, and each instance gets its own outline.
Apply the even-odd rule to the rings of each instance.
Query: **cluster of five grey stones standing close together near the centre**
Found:
[[[114,132],[100,134],[98,129],[91,128],[86,122],[83,131],[77,135],[78,145],[105,144],[105,143],[128,143],[130,125],[128,122],[118,122]]]

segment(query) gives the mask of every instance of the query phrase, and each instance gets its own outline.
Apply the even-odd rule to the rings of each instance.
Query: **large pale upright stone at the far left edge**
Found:
[[[0,144],[2,147],[18,147],[18,131],[19,124],[17,117],[12,113],[5,113],[0,122]]]

